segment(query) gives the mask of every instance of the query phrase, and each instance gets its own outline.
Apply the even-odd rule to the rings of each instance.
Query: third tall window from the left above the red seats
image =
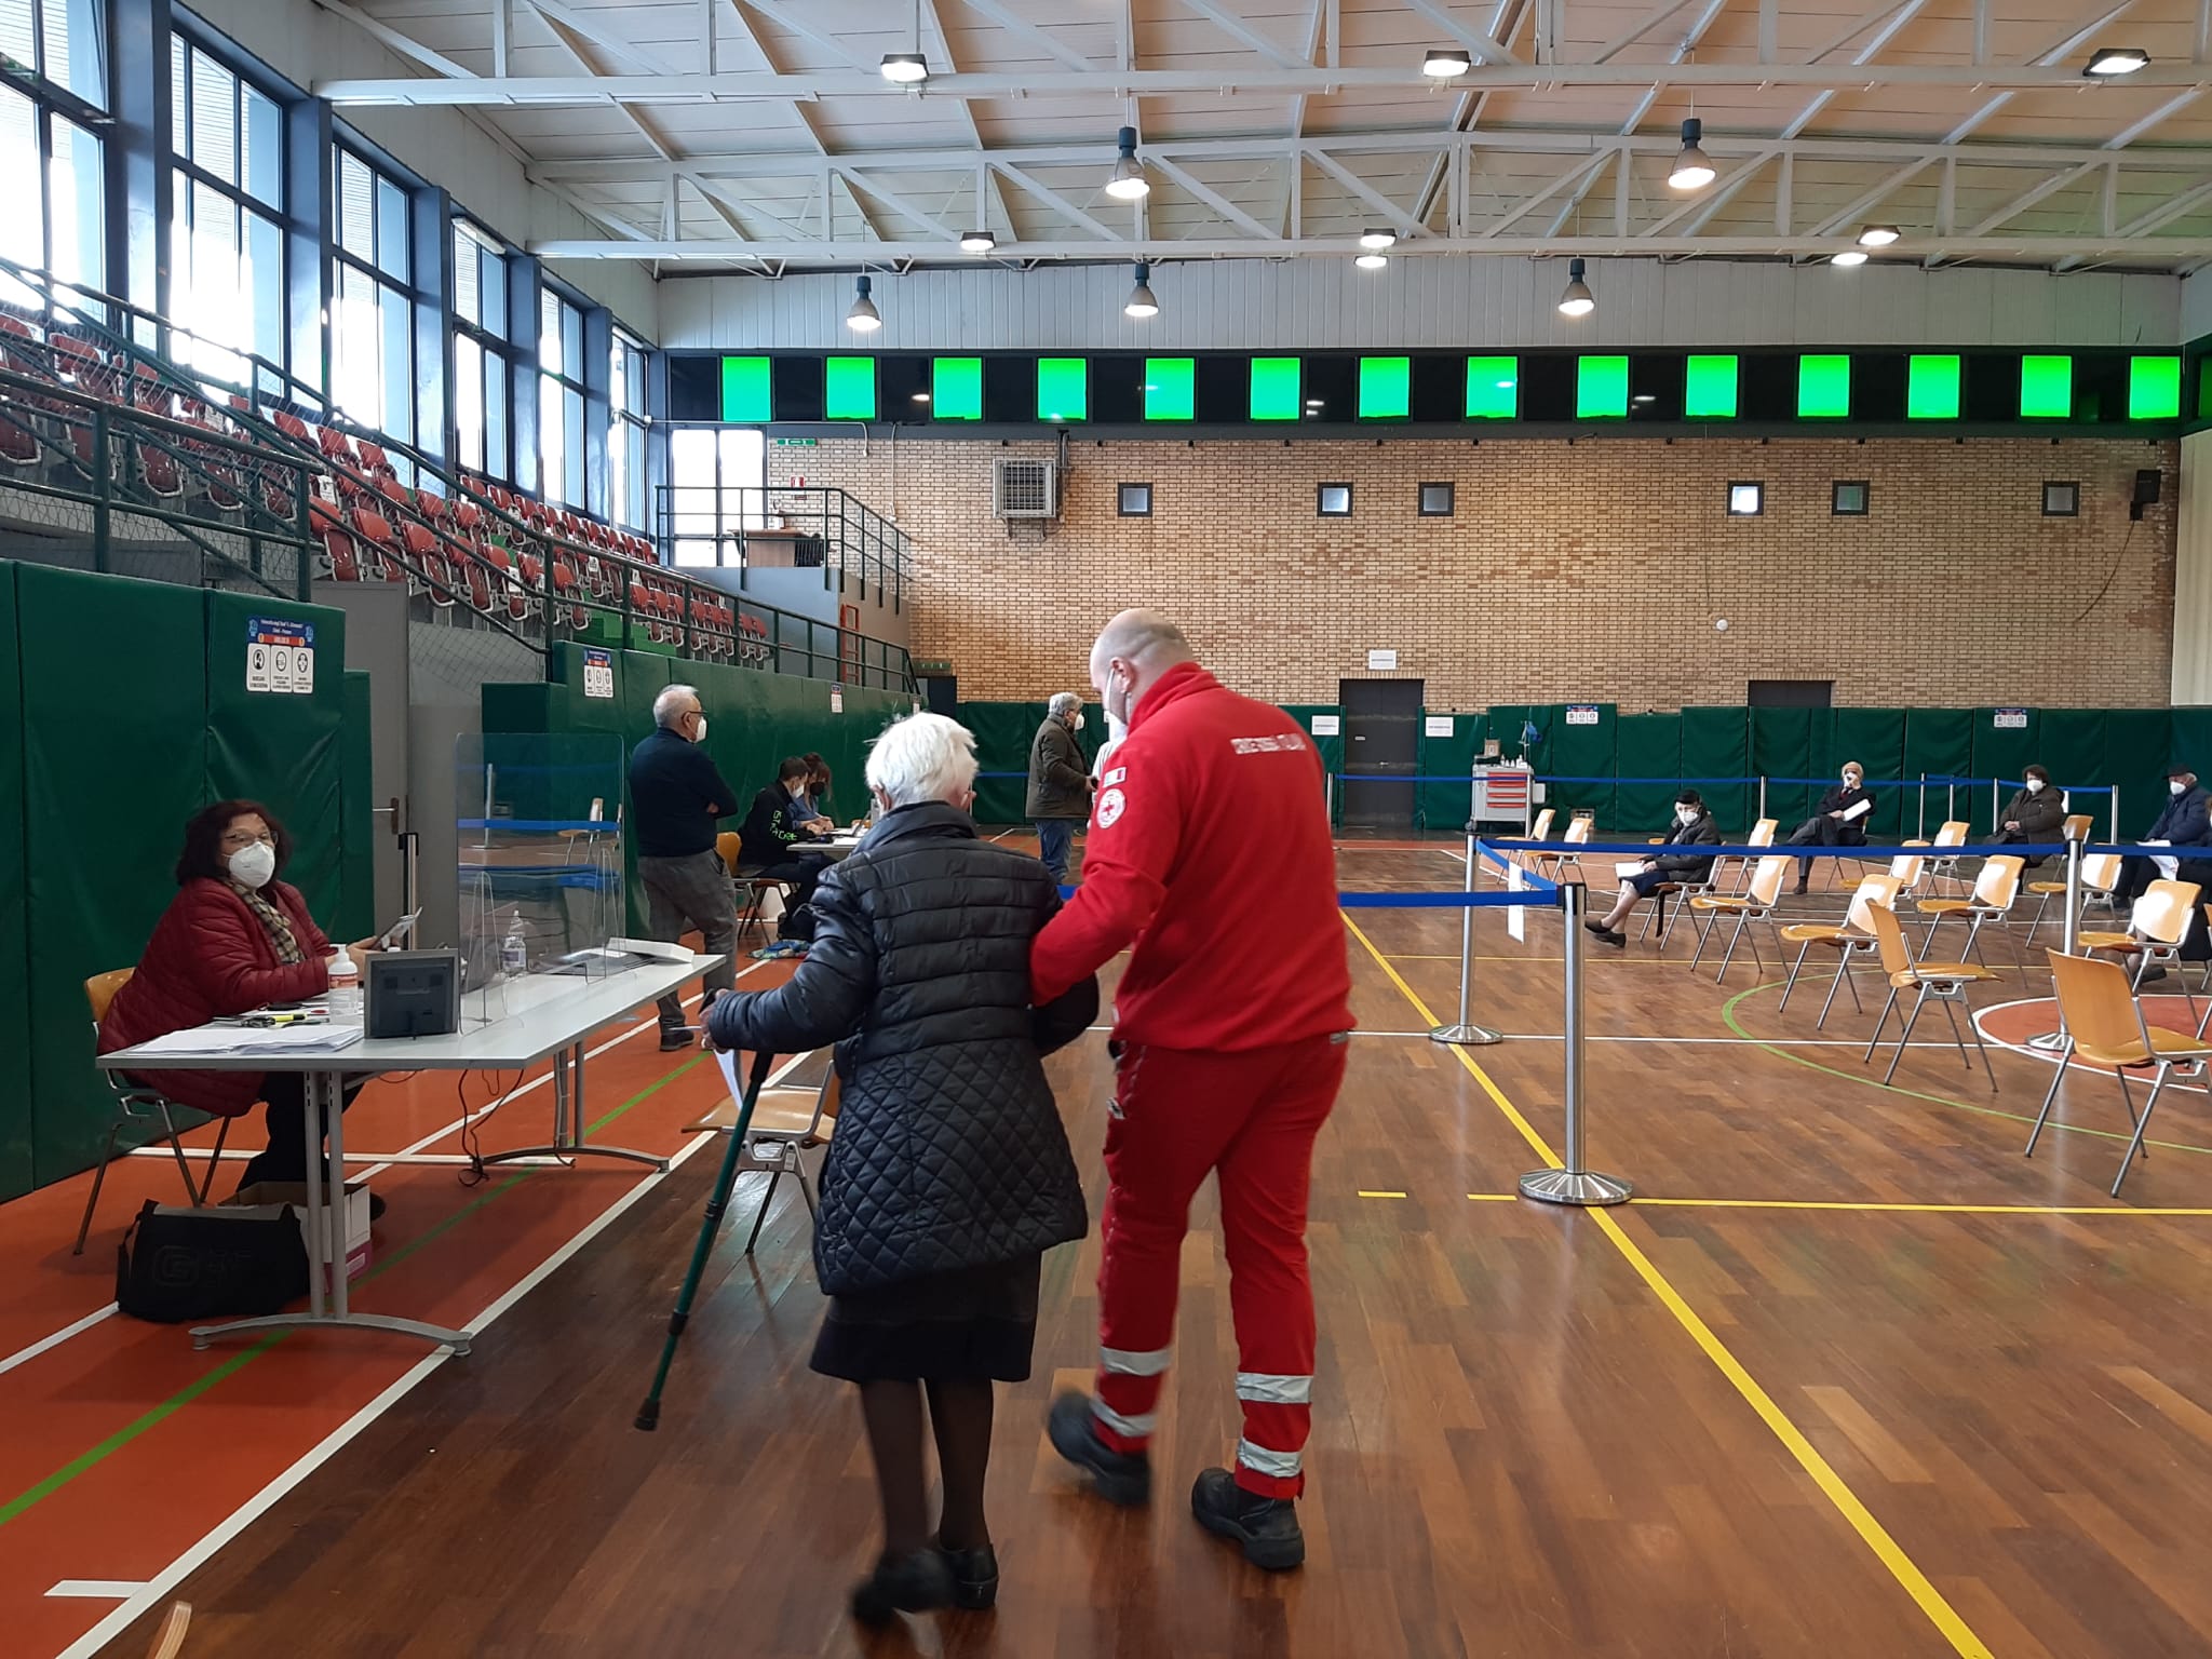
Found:
[[[414,257],[407,186],[338,146],[332,398],[354,420],[414,442]]]

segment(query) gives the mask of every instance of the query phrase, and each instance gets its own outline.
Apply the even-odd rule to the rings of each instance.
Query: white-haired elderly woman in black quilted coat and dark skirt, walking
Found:
[[[883,1559],[852,1610],[987,1608],[991,1383],[1029,1378],[1037,1263],[1088,1228],[1042,1057],[1097,1015],[1097,980],[1029,1004],[1029,942],[1060,907],[1044,865],[978,838],[975,739],[942,714],[891,726],[867,761],[876,827],[814,889],[814,945],[774,991],[726,993],[717,1048],[838,1044],[814,1267],[830,1316],[814,1369],[860,1385]],[[929,1537],[922,1391],[945,1475]]]

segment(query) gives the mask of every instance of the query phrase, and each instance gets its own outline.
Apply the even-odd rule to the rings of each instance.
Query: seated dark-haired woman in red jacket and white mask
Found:
[[[276,880],[292,836],[259,801],[217,801],[184,825],[177,898],[161,914],[137,973],[100,1022],[100,1053],[188,1031],[270,1002],[330,989],[334,956],[296,887]],[[374,940],[347,947],[358,960]],[[296,1073],[159,1071],[142,1082],[181,1106],[239,1117],[268,1102],[268,1150],[239,1186],[307,1179],[307,1124]],[[367,1077],[345,1086],[345,1104]],[[372,1194],[369,1210],[380,1210]]]

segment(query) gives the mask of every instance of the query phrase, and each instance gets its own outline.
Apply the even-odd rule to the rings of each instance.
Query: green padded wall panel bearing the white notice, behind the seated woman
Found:
[[[312,628],[312,692],[254,688],[254,661],[268,650],[252,644],[257,624]],[[341,907],[345,863],[345,757],[338,741],[345,723],[345,613],[208,593],[206,635],[208,796],[263,801],[283,818],[292,832],[292,863],[283,878],[305,896],[307,914],[330,929]],[[265,675],[261,684],[268,684]]]

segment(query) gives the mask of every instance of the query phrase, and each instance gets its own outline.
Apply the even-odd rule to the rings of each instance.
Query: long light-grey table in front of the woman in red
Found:
[[[345,1048],[316,1053],[190,1053],[175,1048],[117,1048],[100,1055],[102,1071],[292,1071],[305,1079],[303,1110],[307,1148],[330,1137],[330,1168],[345,1181],[345,1079],[354,1073],[383,1071],[522,1071],[546,1055],[553,1057],[553,1139],[546,1146],[522,1146],[493,1152],[484,1164],[507,1164],[524,1157],[615,1157],[666,1170],[668,1159],[637,1152],[628,1146],[584,1144],[584,1044],[633,1009],[675,991],[690,978],[723,962],[719,956],[692,956],[684,962],[650,962],[604,980],[577,980],[557,973],[533,973],[504,987],[504,1015],[491,1024],[469,1026],[445,1037],[374,1037]],[[398,1332],[425,1343],[469,1352],[469,1334],[427,1325],[416,1318],[356,1314],[345,1294],[345,1239],[332,1225],[332,1203],[323,1192],[323,1159],[307,1159],[307,1312],[234,1318],[221,1325],[195,1325],[192,1347],[206,1347],[217,1336],[250,1332],[314,1329],[343,1325],[349,1329]],[[325,1296],[325,1281],[330,1294]]]

